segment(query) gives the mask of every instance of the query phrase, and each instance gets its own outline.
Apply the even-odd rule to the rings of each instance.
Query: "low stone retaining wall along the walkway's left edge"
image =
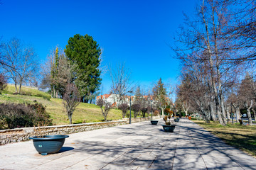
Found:
[[[0,130],[0,145],[11,142],[29,140],[28,137],[33,137],[37,135],[67,135],[75,132],[97,130],[101,128],[109,128],[112,126],[124,124],[126,124],[126,121],[119,120],[103,123],[82,123],[75,125],[55,125],[35,128],[16,128],[11,130]]]

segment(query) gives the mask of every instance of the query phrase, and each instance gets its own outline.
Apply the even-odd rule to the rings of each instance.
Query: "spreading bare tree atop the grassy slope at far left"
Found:
[[[14,81],[16,93],[21,93],[21,86],[28,80],[36,79],[38,69],[38,56],[33,47],[25,45],[17,38],[2,44],[2,64],[6,76]],[[19,84],[19,89],[17,85]]]

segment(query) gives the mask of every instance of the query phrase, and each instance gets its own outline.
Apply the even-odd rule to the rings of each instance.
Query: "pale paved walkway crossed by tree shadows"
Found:
[[[149,121],[79,132],[57,154],[32,141],[0,146],[0,169],[256,169],[256,159],[181,119],[173,133]]]

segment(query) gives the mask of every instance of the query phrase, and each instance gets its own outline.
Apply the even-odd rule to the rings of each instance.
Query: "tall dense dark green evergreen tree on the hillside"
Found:
[[[90,35],[76,34],[69,38],[68,45],[65,48],[65,54],[68,56],[74,67],[75,85],[80,91],[82,101],[86,103],[91,96],[100,88],[100,55],[99,45]]]

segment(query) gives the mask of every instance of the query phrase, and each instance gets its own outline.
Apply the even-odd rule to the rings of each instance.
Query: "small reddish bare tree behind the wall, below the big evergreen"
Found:
[[[65,86],[65,94],[63,96],[63,105],[66,113],[68,114],[68,119],[70,120],[70,124],[72,124],[72,115],[75,111],[75,108],[80,103],[80,94],[75,86],[75,84],[67,84]]]

